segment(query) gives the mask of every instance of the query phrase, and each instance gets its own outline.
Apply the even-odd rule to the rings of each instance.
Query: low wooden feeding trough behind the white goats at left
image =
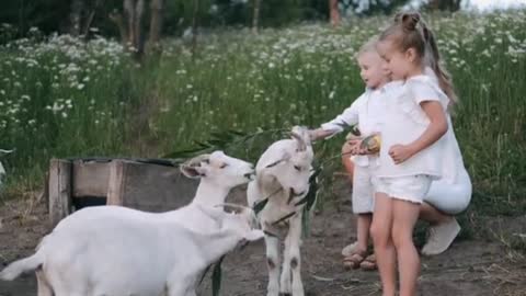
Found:
[[[191,202],[197,180],[159,159],[53,159],[47,196],[52,226],[84,206],[122,205],[147,212]]]

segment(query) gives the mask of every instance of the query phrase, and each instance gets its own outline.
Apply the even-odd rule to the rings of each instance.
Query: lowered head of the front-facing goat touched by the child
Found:
[[[290,133],[294,141],[285,147],[282,156],[266,168],[273,168],[273,175],[290,195],[304,196],[309,191],[309,178],[315,153],[307,128],[295,126]]]

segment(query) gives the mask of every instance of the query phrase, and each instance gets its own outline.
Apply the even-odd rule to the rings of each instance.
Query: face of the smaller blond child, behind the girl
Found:
[[[358,56],[359,75],[367,88],[376,89],[387,81],[384,64],[376,52],[366,52]]]

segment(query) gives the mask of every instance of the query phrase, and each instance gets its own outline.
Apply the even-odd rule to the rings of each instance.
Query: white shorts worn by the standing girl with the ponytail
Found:
[[[395,178],[374,178],[376,192],[381,192],[392,198],[422,204],[430,191],[432,179],[427,174],[416,174]]]

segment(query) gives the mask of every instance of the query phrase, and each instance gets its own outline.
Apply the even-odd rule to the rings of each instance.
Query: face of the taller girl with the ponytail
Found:
[[[377,49],[380,57],[385,60],[385,70],[389,72],[392,80],[405,79],[415,67],[413,48],[402,53],[392,41],[386,39],[378,43]]]

